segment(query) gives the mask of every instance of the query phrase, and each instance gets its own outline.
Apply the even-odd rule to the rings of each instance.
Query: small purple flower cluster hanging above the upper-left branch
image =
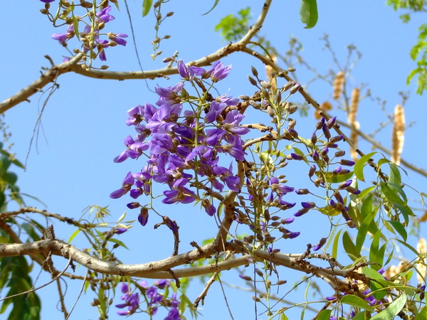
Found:
[[[43,1],[43,0],[41,0]],[[43,2],[51,2],[45,0]],[[106,6],[104,9],[100,10],[96,14],[95,23],[97,25],[110,22],[115,19],[114,16],[110,15],[111,6]],[[90,33],[94,33],[90,35]],[[61,44],[65,45],[65,43],[75,36],[75,26],[73,23],[69,24],[65,33],[53,33],[52,38],[54,40],[59,41]],[[80,38],[82,40],[83,52],[87,53],[88,51],[92,52],[94,49],[97,50],[97,56],[100,57],[101,61],[107,60],[107,56],[105,55],[105,49],[109,46],[126,46],[127,41],[124,38],[127,38],[127,34],[125,33],[107,33],[108,40],[100,39],[99,30],[95,29],[92,31],[90,26],[86,25],[83,33],[80,34]]]

